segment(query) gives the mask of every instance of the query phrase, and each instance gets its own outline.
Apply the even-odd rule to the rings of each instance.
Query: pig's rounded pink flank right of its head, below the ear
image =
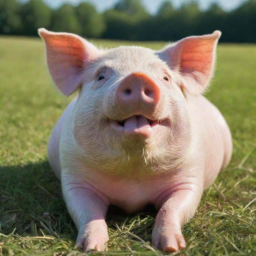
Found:
[[[225,168],[232,154],[232,138],[229,127],[220,111],[204,96],[187,95],[192,123],[199,146],[205,155],[204,187],[216,179]]]

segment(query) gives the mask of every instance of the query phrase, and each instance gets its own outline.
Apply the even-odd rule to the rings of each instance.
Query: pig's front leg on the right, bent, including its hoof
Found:
[[[186,247],[181,228],[196,211],[202,185],[202,181],[197,181],[196,185],[178,184],[158,197],[155,206],[160,210],[152,232],[152,243],[156,248],[176,252]]]

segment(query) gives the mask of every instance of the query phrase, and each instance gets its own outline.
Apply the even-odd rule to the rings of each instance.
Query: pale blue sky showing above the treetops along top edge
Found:
[[[26,2],[27,0],[20,0],[21,2]],[[80,2],[85,2],[85,0],[44,0],[52,8],[58,8],[63,3],[70,3],[73,5],[78,5]],[[87,2],[93,3],[100,12],[105,9],[111,8],[119,0],[86,0]],[[145,7],[151,14],[155,14],[161,3],[165,0],[142,0]],[[171,0],[175,7],[178,7],[181,3],[187,2],[188,0]],[[214,2],[217,2],[224,10],[232,10],[239,6],[246,0],[198,0],[201,9],[207,9],[207,7]]]

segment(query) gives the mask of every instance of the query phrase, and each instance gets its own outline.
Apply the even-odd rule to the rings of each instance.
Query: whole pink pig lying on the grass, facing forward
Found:
[[[158,210],[152,244],[185,248],[183,225],[231,158],[232,138],[203,93],[221,32],[189,36],[159,51],[99,49],[70,33],[38,30],[56,87],[79,95],[48,144],[51,168],[77,229],[76,247],[103,251],[110,205]]]

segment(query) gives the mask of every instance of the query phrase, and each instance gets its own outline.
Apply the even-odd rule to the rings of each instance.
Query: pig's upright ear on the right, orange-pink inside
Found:
[[[183,38],[159,52],[172,70],[181,75],[180,86],[190,94],[203,92],[213,75],[216,46],[221,32]]]

